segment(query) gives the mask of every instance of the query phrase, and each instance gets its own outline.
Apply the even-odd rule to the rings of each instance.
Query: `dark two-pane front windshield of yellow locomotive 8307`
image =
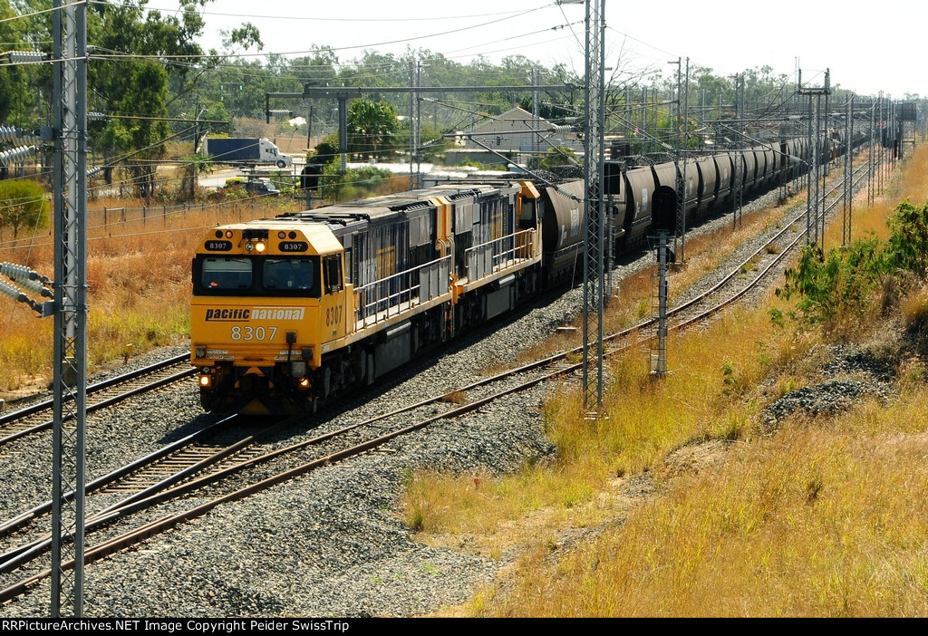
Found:
[[[319,258],[200,256],[194,261],[194,293],[204,296],[321,295]]]

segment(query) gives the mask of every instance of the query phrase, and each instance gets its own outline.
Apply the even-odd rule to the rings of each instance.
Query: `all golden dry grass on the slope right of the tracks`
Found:
[[[928,198],[926,152],[901,182],[915,201]],[[856,203],[854,235],[884,235],[893,200],[869,211]],[[631,286],[634,299],[649,285]],[[922,324],[926,295],[903,301],[908,324]],[[522,554],[454,615],[928,613],[926,365],[900,363],[888,407],[864,401],[834,417],[795,416],[771,434],[757,424],[760,410],[820,381],[821,364],[810,355],[821,350],[818,334],[773,324],[771,309],[790,308],[769,298],[671,337],[674,374],[662,381],[646,379],[640,353],[612,363],[595,422],[579,415],[575,390],[557,391],[545,409],[556,460],[509,477],[412,477],[406,511],[419,506],[424,541]],[[857,334],[883,328],[857,324]]]

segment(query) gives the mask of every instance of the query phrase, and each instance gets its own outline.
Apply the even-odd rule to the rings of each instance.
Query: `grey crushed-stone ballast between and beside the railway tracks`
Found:
[[[730,217],[705,223],[693,235],[726,223]],[[736,255],[730,261],[743,258]],[[619,277],[650,266],[653,254],[625,261]],[[776,276],[773,280],[780,282]],[[364,406],[332,413],[319,428],[292,431],[286,442],[463,386],[484,366],[511,360],[517,351],[547,337],[574,315],[580,298],[581,290],[571,290],[546,307],[499,325],[481,341],[457,343],[428,368],[417,369],[415,375],[406,372],[393,386],[380,388]],[[380,451],[221,506],[149,540],[142,549],[89,566],[85,615],[415,616],[467,601],[504,564],[417,544],[395,512],[397,496],[410,469],[512,471],[551,453],[539,415],[545,390],[497,401],[478,413],[394,440]],[[784,404],[784,413],[786,408]],[[88,423],[89,472],[99,475],[212,418],[201,412],[192,382],[94,415]],[[0,512],[5,518],[25,502],[47,497],[48,448],[50,441],[41,448],[23,443],[5,454],[0,467],[0,488],[6,492]],[[0,582],[8,584],[10,576]],[[45,616],[48,598],[45,582],[25,599],[0,608],[0,616]]]

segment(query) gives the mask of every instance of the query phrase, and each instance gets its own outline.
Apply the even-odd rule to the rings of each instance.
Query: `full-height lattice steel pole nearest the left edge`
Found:
[[[87,20],[83,0],[55,0],[53,6],[55,448],[51,616],[61,616],[70,606],[72,615],[80,617],[84,611],[87,392]]]

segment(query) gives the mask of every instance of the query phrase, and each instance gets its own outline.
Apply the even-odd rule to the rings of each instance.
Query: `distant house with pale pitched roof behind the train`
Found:
[[[552,146],[566,146],[576,152],[583,152],[583,144],[569,127],[555,125],[541,117],[535,120],[532,113],[519,107],[481,121],[463,133],[457,152],[452,152],[485,163],[497,163],[502,159],[483,146],[517,163],[527,163],[530,157],[544,154]]]

